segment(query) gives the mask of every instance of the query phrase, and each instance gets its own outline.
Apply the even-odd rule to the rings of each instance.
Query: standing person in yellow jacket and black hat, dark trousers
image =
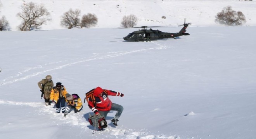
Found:
[[[60,113],[62,110],[62,113],[65,112],[65,102],[66,102],[66,94],[67,90],[66,88],[61,85],[61,83],[56,83],[56,86],[52,88],[52,92],[50,95],[50,102],[56,103],[56,112]]]

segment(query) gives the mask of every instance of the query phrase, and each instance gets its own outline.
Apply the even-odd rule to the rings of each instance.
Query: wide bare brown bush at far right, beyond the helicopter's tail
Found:
[[[246,22],[246,18],[242,12],[236,12],[231,6],[227,6],[216,15],[215,22],[225,25],[242,25]]]

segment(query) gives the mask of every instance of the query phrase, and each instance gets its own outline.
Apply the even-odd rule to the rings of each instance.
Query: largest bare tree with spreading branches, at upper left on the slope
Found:
[[[17,27],[20,31],[31,31],[39,29],[40,25],[50,21],[50,13],[43,5],[29,2],[21,5],[22,12],[17,14],[17,17],[22,19],[22,23]]]

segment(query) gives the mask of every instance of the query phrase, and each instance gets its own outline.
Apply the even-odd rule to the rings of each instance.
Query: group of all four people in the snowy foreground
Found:
[[[51,103],[55,103],[56,112],[57,113],[64,113],[64,117],[74,109],[74,112],[80,112],[83,109],[83,103],[81,98],[77,94],[69,94],[65,86],[62,85],[61,82],[54,83],[52,81],[52,76],[47,75],[45,79],[42,79],[38,82],[38,86],[41,89],[43,98],[45,100],[45,105],[51,105]],[[123,93],[115,92],[112,90],[102,89],[97,87],[93,90],[93,96],[95,100],[89,98],[88,100],[88,107],[94,112],[95,115],[101,115],[106,118],[107,114],[111,110],[115,110],[116,115],[111,122],[117,126],[117,122],[119,121],[119,117],[123,112],[123,106],[118,105],[116,103],[112,103],[109,99],[109,95],[111,96],[120,96],[123,97]],[[41,96],[42,97],[42,96]],[[66,105],[67,104],[67,107]]]

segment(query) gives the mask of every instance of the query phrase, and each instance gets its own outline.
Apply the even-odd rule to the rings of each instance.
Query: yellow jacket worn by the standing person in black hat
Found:
[[[54,88],[52,88],[52,91],[51,91],[50,100],[53,100],[55,103],[57,103],[60,95],[61,95],[61,97],[64,97],[66,100],[66,94],[67,94],[67,91],[63,85],[61,86],[60,89],[58,89],[56,86],[54,86]]]

